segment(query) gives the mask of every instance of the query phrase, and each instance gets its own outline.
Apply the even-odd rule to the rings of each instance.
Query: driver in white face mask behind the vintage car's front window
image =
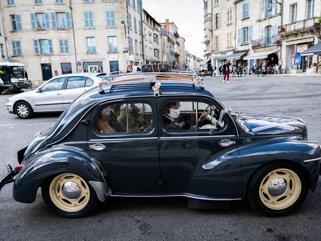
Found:
[[[168,130],[182,130],[182,125],[176,122],[176,119],[180,116],[180,102],[169,102],[164,106],[164,126]]]

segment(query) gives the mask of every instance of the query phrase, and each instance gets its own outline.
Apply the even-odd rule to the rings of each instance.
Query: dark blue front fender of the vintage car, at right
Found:
[[[247,193],[247,186],[252,175],[263,165],[271,162],[285,161],[303,167],[310,179],[309,188],[316,188],[321,148],[316,142],[275,138],[243,142],[238,147],[242,160],[242,197]]]

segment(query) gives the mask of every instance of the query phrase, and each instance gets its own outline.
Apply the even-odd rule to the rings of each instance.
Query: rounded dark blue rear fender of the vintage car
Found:
[[[56,146],[38,152],[26,162],[16,177],[13,197],[16,201],[32,203],[36,200],[38,188],[51,176],[59,173],[75,173],[89,182],[100,201],[110,194],[102,167],[82,149]]]

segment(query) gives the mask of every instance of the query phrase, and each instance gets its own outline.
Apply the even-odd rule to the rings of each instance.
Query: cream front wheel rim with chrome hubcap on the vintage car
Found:
[[[268,208],[281,210],[291,206],[301,193],[298,175],[289,169],[276,169],[262,180],[259,195]]]

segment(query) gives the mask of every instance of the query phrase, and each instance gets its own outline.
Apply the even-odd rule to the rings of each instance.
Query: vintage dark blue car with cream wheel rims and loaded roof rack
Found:
[[[191,72],[111,78],[19,151],[0,189],[14,182],[14,199],[32,203],[41,187],[66,217],[112,196],[185,196],[201,208],[248,198],[280,216],[315,190],[321,147],[302,119],[232,111]]]

